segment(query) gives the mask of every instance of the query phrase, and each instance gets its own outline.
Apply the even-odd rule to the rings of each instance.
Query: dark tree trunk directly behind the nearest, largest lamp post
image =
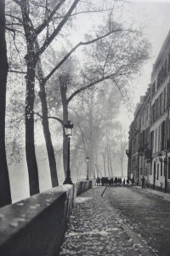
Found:
[[[60,94],[61,94],[61,100],[62,100],[62,106],[63,106],[63,124],[67,124],[68,121],[68,102],[66,99],[66,90],[67,87],[64,84],[65,81],[63,78],[59,78],[59,84],[60,84]],[[67,157],[68,157],[68,137],[65,135],[65,126],[63,126],[63,166],[64,166],[64,172],[66,177],[66,171],[67,171]]]

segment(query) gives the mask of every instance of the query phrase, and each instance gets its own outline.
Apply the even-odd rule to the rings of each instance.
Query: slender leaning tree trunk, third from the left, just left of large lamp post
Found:
[[[54,147],[51,140],[51,133],[49,131],[49,124],[48,124],[48,104],[46,99],[46,92],[45,92],[45,84],[40,82],[40,91],[39,96],[42,102],[42,127],[43,127],[43,134],[45,137],[46,148],[48,151],[48,161],[49,161],[49,169],[51,174],[51,183],[52,187],[59,186],[59,181],[57,177],[57,168],[56,168],[56,161],[54,155]]]

